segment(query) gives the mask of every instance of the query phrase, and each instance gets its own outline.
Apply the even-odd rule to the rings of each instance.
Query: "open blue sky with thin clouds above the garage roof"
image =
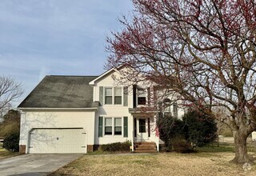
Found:
[[[0,75],[22,82],[18,105],[49,74],[98,75],[106,63],[106,36],[130,0],[2,0]]]

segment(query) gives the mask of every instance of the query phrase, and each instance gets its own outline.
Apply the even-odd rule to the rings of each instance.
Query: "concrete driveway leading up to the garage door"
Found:
[[[0,175],[47,175],[82,154],[23,154],[0,159]]]

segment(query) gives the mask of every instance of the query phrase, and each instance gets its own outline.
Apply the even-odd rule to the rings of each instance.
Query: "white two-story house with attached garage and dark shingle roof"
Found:
[[[18,106],[20,152],[86,153],[102,144],[126,141],[132,150],[136,142],[149,142],[159,150],[152,115],[154,86],[118,85],[118,77],[118,70],[111,69],[98,77],[43,78]],[[177,117],[183,114],[177,104],[166,111]]]

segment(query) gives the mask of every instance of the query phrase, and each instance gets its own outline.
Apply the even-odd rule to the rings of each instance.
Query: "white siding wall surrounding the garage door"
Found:
[[[94,112],[27,111],[22,112],[20,145],[28,147],[30,130],[38,128],[82,128],[87,145],[94,145]],[[26,149],[27,152],[27,149]]]

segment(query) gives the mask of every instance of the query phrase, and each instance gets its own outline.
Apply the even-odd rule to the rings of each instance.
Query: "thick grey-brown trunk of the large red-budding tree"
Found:
[[[235,156],[231,162],[237,164],[243,164],[245,162],[250,162],[250,159],[247,154],[246,140],[249,134],[246,134],[245,131],[236,130],[234,134],[234,146],[235,146]]]

